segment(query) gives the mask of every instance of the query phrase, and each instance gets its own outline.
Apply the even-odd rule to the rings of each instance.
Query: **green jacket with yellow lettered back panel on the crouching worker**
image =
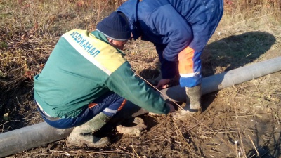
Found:
[[[150,112],[167,114],[163,98],[136,77],[124,55],[98,31],[71,30],[34,77],[34,98],[51,117],[77,117],[109,91]]]

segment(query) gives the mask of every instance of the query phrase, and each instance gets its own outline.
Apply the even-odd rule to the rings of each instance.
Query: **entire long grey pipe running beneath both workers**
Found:
[[[205,77],[202,79],[202,95],[278,71],[281,71],[281,57]],[[162,92],[166,94],[166,96],[169,96],[170,100],[176,102],[185,101],[185,88],[181,88],[180,86],[166,88],[162,90]],[[119,112],[118,116],[126,119],[145,113],[147,113],[146,110],[127,102]],[[71,131],[72,129],[55,129],[45,122],[42,122],[21,129],[1,133],[0,157],[6,157],[23,150],[61,140],[66,138]]]

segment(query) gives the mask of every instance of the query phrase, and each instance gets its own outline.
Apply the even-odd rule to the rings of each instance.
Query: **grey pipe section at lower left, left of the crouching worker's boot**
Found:
[[[72,129],[55,129],[46,122],[0,134],[0,157],[66,138]]]

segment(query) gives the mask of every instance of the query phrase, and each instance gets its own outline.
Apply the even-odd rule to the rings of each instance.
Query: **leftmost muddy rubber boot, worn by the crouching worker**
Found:
[[[85,124],[75,127],[68,136],[67,143],[78,147],[105,147],[110,143],[110,139],[107,137],[98,138],[93,136],[93,133],[103,127],[109,120],[110,117],[100,112]]]

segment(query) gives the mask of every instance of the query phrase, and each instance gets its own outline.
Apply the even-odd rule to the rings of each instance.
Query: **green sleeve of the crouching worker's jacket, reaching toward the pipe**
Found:
[[[137,77],[127,61],[110,75],[105,86],[149,112],[169,113],[169,106],[165,104],[162,96]]]

